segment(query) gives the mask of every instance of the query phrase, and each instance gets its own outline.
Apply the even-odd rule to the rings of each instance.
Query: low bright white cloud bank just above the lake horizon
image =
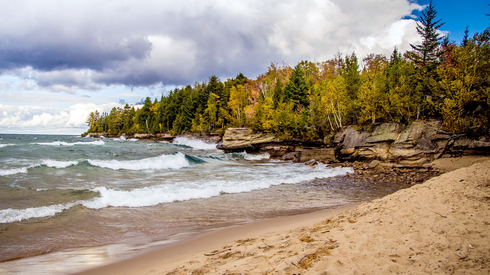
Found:
[[[87,130],[85,120],[90,112],[110,112],[113,107],[123,106],[115,102],[77,103],[68,108],[0,104],[0,110],[3,110],[0,133],[79,135]]]

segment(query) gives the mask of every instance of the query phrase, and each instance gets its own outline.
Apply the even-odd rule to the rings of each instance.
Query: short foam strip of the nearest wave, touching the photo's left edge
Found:
[[[22,220],[28,220],[30,218],[42,218],[47,216],[53,216],[65,209],[72,206],[79,205],[80,203],[59,204],[52,206],[31,207],[27,209],[5,209],[0,210],[0,224],[20,222]]]

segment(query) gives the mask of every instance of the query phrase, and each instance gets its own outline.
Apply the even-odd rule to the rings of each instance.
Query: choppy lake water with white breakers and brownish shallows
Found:
[[[258,219],[367,201],[406,187],[355,183],[215,144],[0,134],[0,273],[69,274]]]

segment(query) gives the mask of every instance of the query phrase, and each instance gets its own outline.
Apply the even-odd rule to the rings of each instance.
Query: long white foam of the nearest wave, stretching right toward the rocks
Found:
[[[161,203],[185,201],[190,199],[210,198],[222,193],[241,193],[252,190],[270,188],[273,185],[292,184],[314,179],[322,179],[352,173],[351,168],[334,169],[301,169],[299,172],[281,173],[265,176],[259,179],[245,180],[201,180],[194,182],[172,182],[155,186],[136,188],[129,191],[115,190],[106,187],[91,189],[100,193],[100,197],[83,201],[82,205],[88,208],[103,208],[107,206],[154,206]],[[312,171],[313,170],[313,171]]]

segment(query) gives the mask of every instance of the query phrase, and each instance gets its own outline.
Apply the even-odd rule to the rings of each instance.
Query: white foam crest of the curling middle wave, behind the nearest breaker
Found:
[[[185,155],[176,153],[173,155],[162,155],[143,160],[87,160],[91,165],[113,170],[143,170],[143,169],[179,169],[189,166]]]

